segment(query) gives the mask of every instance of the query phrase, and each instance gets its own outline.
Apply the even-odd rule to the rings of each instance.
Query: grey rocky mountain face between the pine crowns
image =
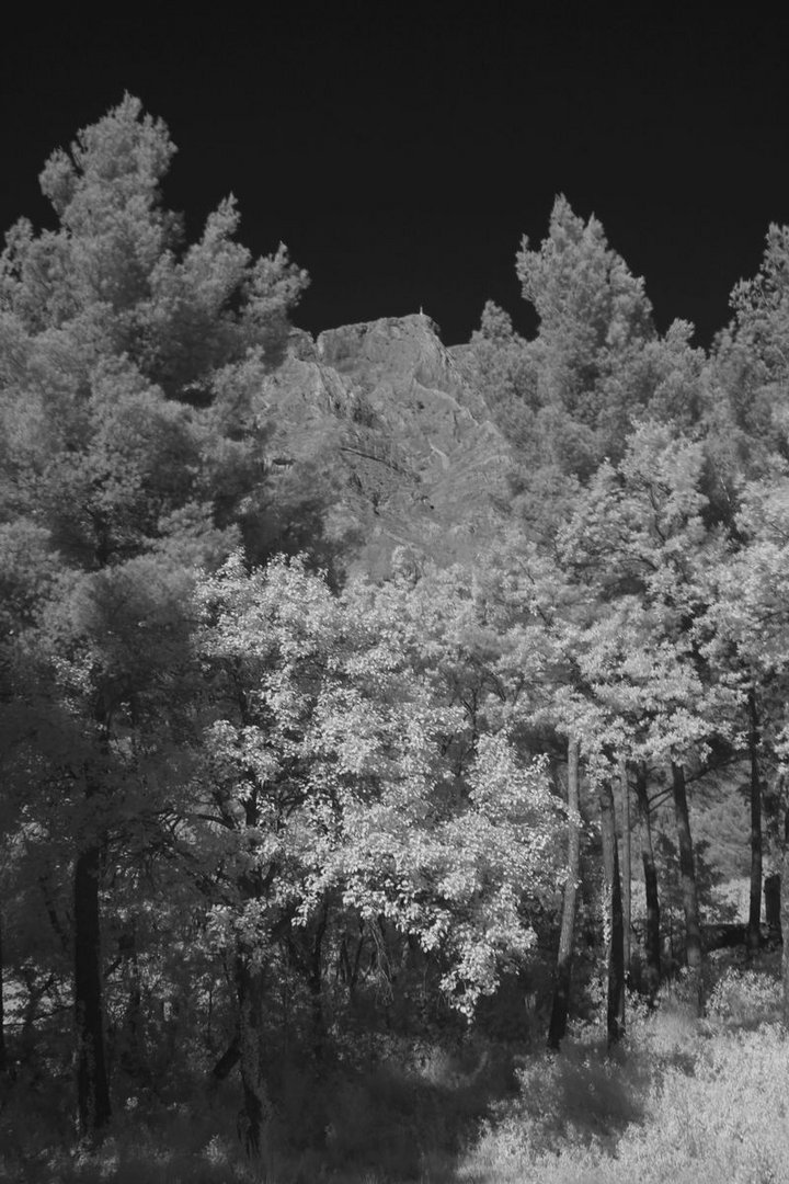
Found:
[[[382,575],[397,546],[452,561],[485,541],[510,449],[427,316],[297,332],[263,395],[278,462],[334,474],[351,566]]]

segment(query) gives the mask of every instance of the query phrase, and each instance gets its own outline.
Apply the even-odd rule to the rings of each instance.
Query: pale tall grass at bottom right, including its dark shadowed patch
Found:
[[[679,992],[615,1060],[588,1035],[531,1061],[459,1166],[464,1184],[785,1184],[789,1040],[767,972],[726,971],[698,1019]]]

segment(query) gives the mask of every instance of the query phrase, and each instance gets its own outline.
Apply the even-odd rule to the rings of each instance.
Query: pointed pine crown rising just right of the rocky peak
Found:
[[[704,354],[691,346],[693,328],[675,321],[658,335],[644,281],[612,250],[596,218],[584,223],[558,197],[547,238],[535,250],[524,239],[516,270],[539,317],[517,367],[528,375],[518,385],[530,417],[519,431],[530,427],[539,463],[550,457],[564,472],[589,477],[603,458],[621,459],[634,418],[686,430],[698,423]],[[489,337],[487,355],[499,340]],[[512,359],[510,373],[513,346],[510,337],[499,346],[502,358]],[[487,369],[494,372],[490,361]]]

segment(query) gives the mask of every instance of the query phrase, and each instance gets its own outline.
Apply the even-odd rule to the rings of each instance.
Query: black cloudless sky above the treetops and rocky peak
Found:
[[[632,7],[30,5],[4,18],[0,225],[46,219],[46,156],[128,90],[179,146],[167,204],[196,233],[232,191],[242,240],[282,239],[310,272],[312,332],[423,305],[453,343],[487,298],[530,332],[515,253],[563,192],[659,326],[707,343],[789,223],[789,20]]]

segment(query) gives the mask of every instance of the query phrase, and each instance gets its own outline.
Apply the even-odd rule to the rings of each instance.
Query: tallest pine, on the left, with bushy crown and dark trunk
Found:
[[[58,229],[18,223],[0,258],[0,530],[18,618],[5,670],[13,709],[58,733],[37,752],[45,733],[19,728],[15,748],[69,804],[88,1138],[110,1118],[108,852],[119,819],[161,806],[142,766],[182,726],[194,570],[265,510],[254,375],[274,363],[304,284],[284,249],[256,262],[235,242],[232,200],[186,244],[162,205],[174,150],[127,96],[47,161]]]

